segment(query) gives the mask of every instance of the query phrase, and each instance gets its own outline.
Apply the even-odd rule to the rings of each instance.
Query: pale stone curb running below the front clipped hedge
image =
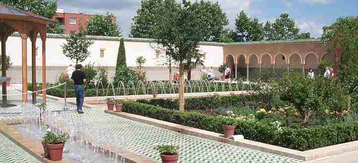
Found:
[[[123,118],[138,121],[141,123],[153,125],[153,126],[168,129],[171,131],[180,132],[182,134],[197,136],[200,138],[205,138],[205,139],[214,140],[214,141],[218,141],[218,142],[228,143],[228,144],[232,144],[232,145],[236,145],[236,146],[240,146],[240,147],[246,147],[246,148],[250,148],[250,149],[254,149],[254,150],[259,150],[259,151],[263,151],[263,152],[286,156],[286,157],[299,159],[299,160],[303,160],[303,161],[309,161],[309,160],[324,158],[324,157],[328,157],[328,156],[333,156],[333,155],[338,155],[338,154],[358,150],[358,141],[354,141],[354,142],[343,143],[343,144],[338,144],[338,145],[334,145],[334,146],[329,146],[329,147],[324,147],[324,148],[301,152],[301,151],[296,151],[296,150],[292,150],[292,149],[288,149],[288,148],[283,148],[283,147],[279,147],[279,146],[269,145],[269,144],[245,140],[245,139],[239,140],[239,141],[234,141],[231,139],[223,138],[222,134],[219,134],[219,133],[201,130],[201,129],[197,129],[197,128],[192,128],[192,127],[187,127],[187,126],[183,126],[183,125],[179,125],[179,124],[175,124],[175,123],[170,123],[170,122],[153,119],[153,118],[148,118],[145,116],[130,114],[130,113],[126,113],[126,112],[115,112],[115,111],[109,111],[109,110],[105,110],[105,112],[109,113],[109,114],[117,115],[117,116],[120,116]]]

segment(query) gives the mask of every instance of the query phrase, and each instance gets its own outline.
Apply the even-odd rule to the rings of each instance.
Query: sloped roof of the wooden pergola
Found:
[[[24,20],[41,24],[51,24],[55,22],[54,20],[48,19],[46,17],[8,7],[4,4],[0,4],[0,18]]]

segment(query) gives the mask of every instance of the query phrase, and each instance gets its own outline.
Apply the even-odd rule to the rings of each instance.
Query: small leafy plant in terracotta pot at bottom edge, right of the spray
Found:
[[[171,145],[158,145],[156,150],[159,151],[162,163],[178,163],[178,150],[179,146]]]

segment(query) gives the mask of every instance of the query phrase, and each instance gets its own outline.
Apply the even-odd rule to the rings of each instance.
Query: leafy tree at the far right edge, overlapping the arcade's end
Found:
[[[329,42],[333,41],[333,48]],[[358,92],[358,16],[338,18],[330,26],[323,27],[322,43],[328,52],[342,50],[342,55],[335,54],[339,63],[338,78],[351,96]],[[351,101],[350,101],[351,108]]]

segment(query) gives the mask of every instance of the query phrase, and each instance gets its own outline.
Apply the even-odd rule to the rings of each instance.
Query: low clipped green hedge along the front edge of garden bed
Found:
[[[227,119],[195,111],[164,109],[136,102],[126,102],[124,111],[217,133],[223,133],[222,124]],[[358,122],[307,128],[282,127],[282,132],[277,132],[276,127],[257,121],[236,119],[233,121],[238,123],[235,134],[244,135],[245,139],[299,151],[358,140]]]

